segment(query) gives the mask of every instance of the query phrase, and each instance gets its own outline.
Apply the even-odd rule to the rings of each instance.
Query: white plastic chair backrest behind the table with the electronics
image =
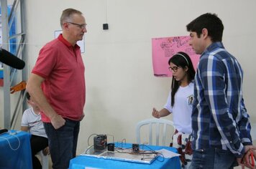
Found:
[[[157,118],[151,118],[147,120],[142,120],[137,123],[136,126],[136,137],[137,137],[137,143],[140,143],[140,138],[142,135],[142,126],[149,127],[148,132],[148,144],[149,145],[159,145],[160,140],[162,140],[162,145],[166,146],[166,135],[168,132],[168,135],[171,137],[173,135],[173,132],[175,132],[175,127],[173,126],[173,122],[171,120],[166,120],[163,118],[157,119]],[[170,130],[168,130],[168,127],[170,127]],[[171,132],[170,132],[171,131]],[[155,133],[153,135],[153,133]],[[145,133],[144,133],[145,134]],[[153,137],[155,139],[155,142],[153,141]],[[169,143],[170,144],[169,140]]]

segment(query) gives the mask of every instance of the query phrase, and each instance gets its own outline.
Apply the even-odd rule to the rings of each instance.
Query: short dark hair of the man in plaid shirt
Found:
[[[224,26],[221,19],[216,14],[202,14],[187,25],[188,32],[196,32],[197,37],[200,37],[202,29],[208,30],[208,36],[212,42],[221,42]]]

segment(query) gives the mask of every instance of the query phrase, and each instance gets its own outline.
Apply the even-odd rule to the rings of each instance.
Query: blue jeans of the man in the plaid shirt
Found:
[[[228,169],[237,166],[237,158],[229,150],[217,148],[193,150],[189,169]]]

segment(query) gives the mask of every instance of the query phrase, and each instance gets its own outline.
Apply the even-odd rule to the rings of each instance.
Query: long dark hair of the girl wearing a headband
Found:
[[[168,64],[170,65],[170,62],[175,64],[177,67],[182,67],[185,69],[188,67],[188,84],[193,81],[195,77],[195,69],[193,69],[193,64],[191,62],[191,58],[186,54],[185,52],[178,52],[177,54],[174,54],[173,57],[171,57],[168,61]],[[178,82],[174,77],[172,80],[171,85],[171,106],[173,107],[175,103],[175,94],[178,91],[178,87],[180,87],[180,82]]]

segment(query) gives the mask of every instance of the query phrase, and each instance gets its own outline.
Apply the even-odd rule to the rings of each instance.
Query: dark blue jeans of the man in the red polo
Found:
[[[65,125],[58,130],[50,122],[44,122],[44,127],[49,140],[52,168],[68,168],[69,161],[76,157],[80,122],[65,119]]]

